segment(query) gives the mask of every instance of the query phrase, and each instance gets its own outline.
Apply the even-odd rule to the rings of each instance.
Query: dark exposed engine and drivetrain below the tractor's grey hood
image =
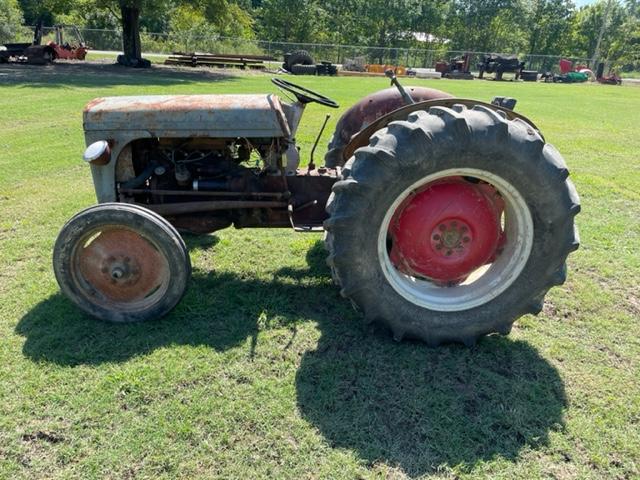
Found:
[[[136,140],[118,161],[119,199],[194,233],[232,224],[317,226],[337,171],[287,172],[288,146],[281,138]]]

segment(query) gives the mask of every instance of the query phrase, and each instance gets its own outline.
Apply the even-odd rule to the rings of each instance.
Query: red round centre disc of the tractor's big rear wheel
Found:
[[[432,182],[410,195],[391,225],[390,258],[401,272],[456,284],[495,258],[502,203],[493,187],[460,177]]]

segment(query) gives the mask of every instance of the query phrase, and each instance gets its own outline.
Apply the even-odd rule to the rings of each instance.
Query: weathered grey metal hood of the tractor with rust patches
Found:
[[[84,109],[85,132],[146,131],[155,137],[286,137],[276,95],[153,95],[96,98]]]

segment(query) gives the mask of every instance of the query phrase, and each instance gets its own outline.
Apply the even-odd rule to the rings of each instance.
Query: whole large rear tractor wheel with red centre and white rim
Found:
[[[507,334],[541,311],[578,248],[567,177],[522,120],[484,106],[414,112],[345,165],[327,204],[327,262],[342,295],[398,340]]]

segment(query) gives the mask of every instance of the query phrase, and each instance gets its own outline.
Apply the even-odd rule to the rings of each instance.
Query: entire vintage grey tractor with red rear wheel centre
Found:
[[[99,203],[55,243],[62,291],[103,320],[156,319],[189,282],[178,230],[285,227],[325,232],[341,294],[395,339],[472,345],[507,334],[541,311],[578,248],[567,167],[508,102],[392,81],[342,116],[322,167],[313,151],[300,167],[296,130],[308,103],[338,105],[286,80],[273,83],[290,103],[272,94],[93,100],[84,160]]]

